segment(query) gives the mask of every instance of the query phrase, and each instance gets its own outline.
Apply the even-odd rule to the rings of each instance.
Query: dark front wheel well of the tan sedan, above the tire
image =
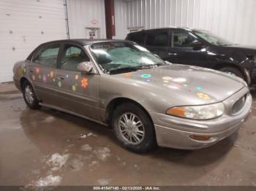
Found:
[[[153,120],[151,119],[150,114],[148,114],[146,109],[143,106],[141,106],[137,101],[134,101],[129,98],[115,98],[112,101],[110,101],[110,103],[108,104],[107,109],[106,109],[106,122],[108,124],[110,124],[110,122],[111,122],[111,118],[113,117],[113,111],[116,109],[116,107],[121,104],[124,104],[124,103],[133,103],[133,104],[139,106],[140,109],[142,109],[148,115],[149,119],[153,123]]]

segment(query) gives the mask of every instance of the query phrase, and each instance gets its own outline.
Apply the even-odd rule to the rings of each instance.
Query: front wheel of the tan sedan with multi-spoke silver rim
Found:
[[[129,119],[127,123],[125,122],[126,117]],[[131,122],[132,118],[133,122]],[[138,123],[137,127],[135,125],[136,122]],[[157,146],[154,125],[148,117],[148,114],[136,104],[125,103],[117,106],[113,112],[111,125],[116,139],[125,149],[132,152],[143,153]],[[143,133],[141,131],[143,131]],[[138,139],[140,140],[138,141]]]

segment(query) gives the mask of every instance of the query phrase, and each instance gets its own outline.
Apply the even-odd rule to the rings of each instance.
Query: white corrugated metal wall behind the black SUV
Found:
[[[128,27],[188,26],[239,44],[256,44],[255,0],[132,0]]]

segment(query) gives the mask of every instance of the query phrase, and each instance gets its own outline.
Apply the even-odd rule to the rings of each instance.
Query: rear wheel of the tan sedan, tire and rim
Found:
[[[26,102],[26,105],[29,106],[30,109],[39,109],[41,107],[34,93],[34,88],[29,83],[28,80],[26,80],[22,84],[22,93],[23,93],[24,101]]]

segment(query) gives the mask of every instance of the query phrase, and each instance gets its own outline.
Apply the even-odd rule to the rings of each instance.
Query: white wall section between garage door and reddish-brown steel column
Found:
[[[86,28],[99,28],[99,38],[106,38],[104,0],[67,0],[67,15],[70,39],[85,39]]]

